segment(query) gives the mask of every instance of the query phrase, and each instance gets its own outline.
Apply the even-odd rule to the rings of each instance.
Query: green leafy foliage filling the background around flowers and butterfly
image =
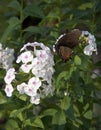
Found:
[[[15,49],[15,57],[26,42],[37,40],[52,48],[61,32],[74,28],[90,30],[100,46],[100,0],[0,1],[3,2],[4,8],[0,4],[0,17],[3,18],[2,25],[0,23],[0,34],[3,32],[0,41],[3,46]],[[6,98],[4,70],[0,70],[0,119],[6,119],[0,129],[95,130],[97,120],[93,116],[93,105],[101,105],[101,98],[96,96],[96,92],[101,91],[101,77],[97,74],[94,79],[91,77],[93,69],[101,67],[101,61],[94,64],[92,57],[85,56],[82,50],[77,47],[74,50],[76,54],[67,62],[54,56],[54,94],[43,99],[39,108],[29,104],[25,95],[14,93],[12,98]],[[26,80],[28,76],[18,75],[18,82]]]

